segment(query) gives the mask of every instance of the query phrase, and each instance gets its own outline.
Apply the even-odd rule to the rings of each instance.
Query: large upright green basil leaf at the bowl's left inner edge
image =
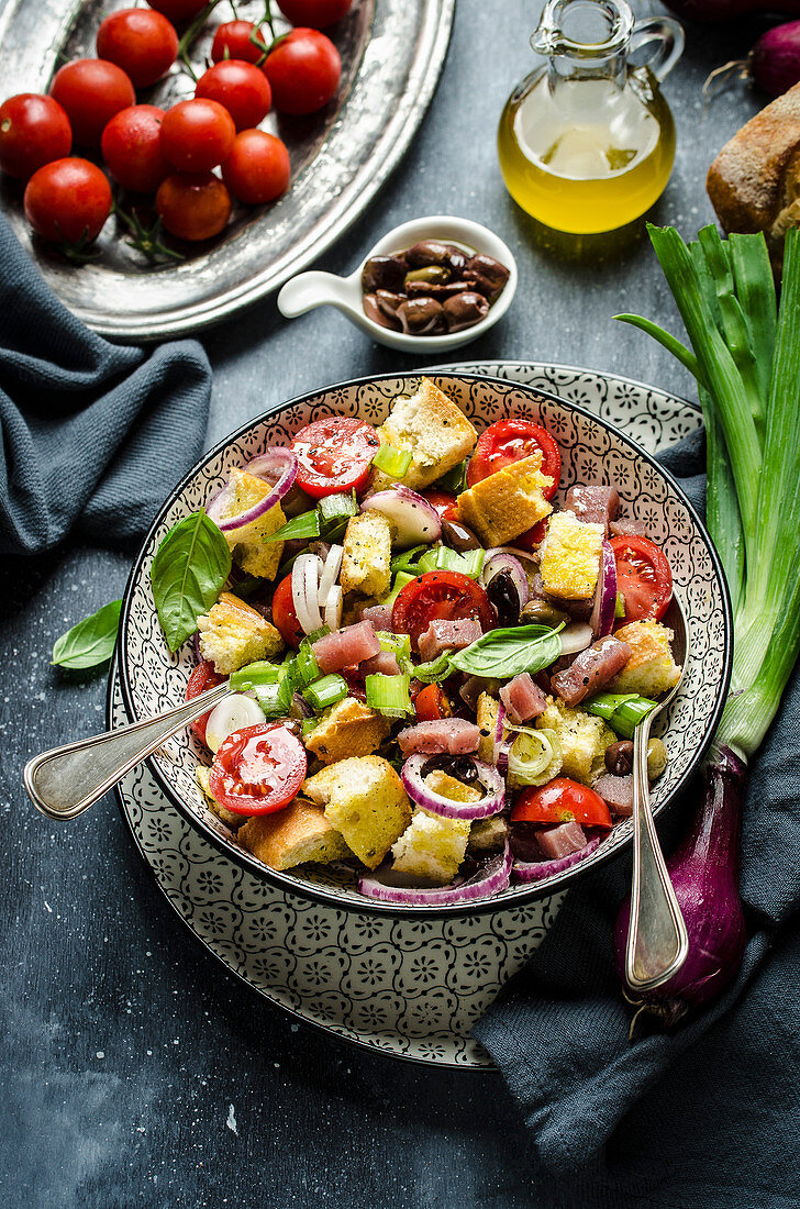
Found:
[[[231,551],[201,509],[173,525],[156,550],[150,582],[170,650],[197,630],[197,618],[216,601],[231,572]]]

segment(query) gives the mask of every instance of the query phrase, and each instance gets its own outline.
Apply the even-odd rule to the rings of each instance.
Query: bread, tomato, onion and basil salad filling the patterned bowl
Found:
[[[377,428],[323,416],[231,472],[205,509],[230,573],[186,695],[230,678],[193,723],[197,785],[253,856],[469,902],[631,814],[633,729],[680,676],[672,574],[614,485],[558,503],[560,479],[551,433],[479,436],[425,378]]]

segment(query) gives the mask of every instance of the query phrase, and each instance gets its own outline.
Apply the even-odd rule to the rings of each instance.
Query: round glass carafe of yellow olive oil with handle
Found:
[[[634,22],[625,0],[549,0],[531,45],[547,63],[509,97],[498,133],[509,192],[557,231],[632,222],[672,170],[676,128],[659,83],[683,29],[669,17]],[[643,47],[649,62],[632,66]]]

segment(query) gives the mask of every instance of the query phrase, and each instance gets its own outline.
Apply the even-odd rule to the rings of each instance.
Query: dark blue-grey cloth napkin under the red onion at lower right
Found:
[[[661,458],[705,503],[702,439]],[[667,851],[700,786],[659,826]],[[475,1028],[533,1141],[541,1204],[800,1204],[800,675],[750,765],[742,971],[702,1016],[628,1042],[611,929],[630,858],[587,877]],[[539,1202],[537,1202],[539,1203]]]

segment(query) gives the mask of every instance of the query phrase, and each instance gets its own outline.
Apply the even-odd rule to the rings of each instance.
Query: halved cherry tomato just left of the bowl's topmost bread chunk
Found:
[[[372,424],[350,416],[326,416],[301,428],[291,447],[300,459],[297,486],[314,499],[359,491],[381,441]]]

